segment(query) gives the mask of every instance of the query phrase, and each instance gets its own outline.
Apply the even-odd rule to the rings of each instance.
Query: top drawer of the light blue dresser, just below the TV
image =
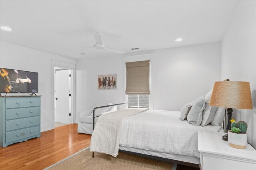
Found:
[[[31,107],[39,106],[40,98],[38,97],[26,97],[26,98],[7,98],[6,109],[19,108],[19,107]]]

